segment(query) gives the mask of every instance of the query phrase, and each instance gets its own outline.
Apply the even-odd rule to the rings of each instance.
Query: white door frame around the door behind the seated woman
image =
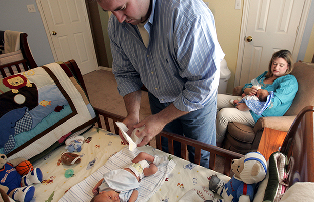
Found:
[[[309,13],[310,5],[312,0],[305,0],[303,11],[301,14],[298,34],[295,38],[293,50],[292,50],[292,58],[293,61],[297,60],[300,46],[302,42],[302,37],[305,30],[306,20]],[[235,69],[235,76],[234,76],[234,86],[239,86],[240,84],[240,76],[241,76],[241,68],[242,68],[242,60],[243,60],[243,52],[244,52],[244,46],[245,46],[245,33],[248,23],[248,15],[249,15],[249,6],[250,6],[250,0],[244,0],[243,2],[243,12],[242,12],[242,20],[241,20],[241,30],[240,30],[240,37],[239,37],[239,47],[238,47],[238,57],[237,57],[237,67]]]

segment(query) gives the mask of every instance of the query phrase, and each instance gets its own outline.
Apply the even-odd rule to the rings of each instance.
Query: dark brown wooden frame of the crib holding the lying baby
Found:
[[[65,64],[70,68],[73,75],[80,82],[82,88],[87,92],[82,74],[74,60],[69,60]],[[9,64],[2,65],[0,70],[8,67]],[[114,124],[115,122],[122,122],[124,117],[95,108],[98,116],[98,127],[107,131],[118,134],[119,129]],[[111,127],[110,127],[111,125]],[[113,126],[113,128],[112,128]],[[187,145],[195,147],[195,164],[200,165],[201,149],[210,152],[209,169],[215,170],[215,163],[217,155],[225,158],[223,174],[230,176],[230,166],[232,160],[241,158],[243,155],[228,151],[219,147],[208,145],[197,140],[186,138],[174,133],[162,131],[156,136],[156,147],[161,149],[161,136],[168,138],[169,151],[173,154],[173,141],[181,143],[181,156],[187,160]],[[288,163],[288,177],[286,183],[288,187],[292,186],[296,181],[300,182],[314,182],[314,107],[305,107],[294,120],[288,134],[282,144],[282,153],[287,155]],[[297,175],[296,175],[297,174]],[[298,179],[295,176],[299,176]]]

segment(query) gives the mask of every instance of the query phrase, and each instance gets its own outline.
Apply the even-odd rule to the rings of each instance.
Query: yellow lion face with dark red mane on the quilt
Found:
[[[12,90],[12,93],[18,93],[20,88],[27,86],[32,87],[32,84],[28,79],[20,74],[6,77],[2,80],[2,83]]]

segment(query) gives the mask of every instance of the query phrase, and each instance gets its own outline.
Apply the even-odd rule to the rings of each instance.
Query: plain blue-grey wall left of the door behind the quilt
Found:
[[[35,13],[28,13],[28,4]],[[0,30],[20,31],[28,34],[27,41],[38,66],[54,62],[42,18],[35,0],[0,1]]]

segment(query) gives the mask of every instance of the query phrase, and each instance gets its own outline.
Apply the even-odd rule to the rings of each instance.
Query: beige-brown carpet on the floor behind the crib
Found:
[[[117,83],[111,71],[98,70],[83,76],[87,93],[93,107],[97,107],[108,112],[126,116],[122,96],[117,92]],[[151,114],[148,93],[142,91],[142,100],[140,108],[140,120]],[[155,139],[150,141],[150,145],[156,148]],[[223,172],[224,158],[217,156],[215,171]]]

